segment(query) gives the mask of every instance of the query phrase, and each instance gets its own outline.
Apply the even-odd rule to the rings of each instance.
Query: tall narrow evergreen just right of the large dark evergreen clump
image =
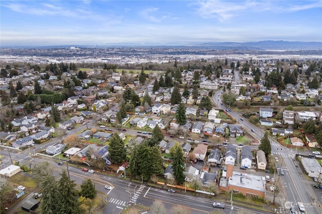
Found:
[[[182,184],[185,181],[185,162],[183,158],[183,150],[182,147],[178,144],[178,146],[174,146],[173,156],[172,156],[172,169],[175,180],[178,184]]]

